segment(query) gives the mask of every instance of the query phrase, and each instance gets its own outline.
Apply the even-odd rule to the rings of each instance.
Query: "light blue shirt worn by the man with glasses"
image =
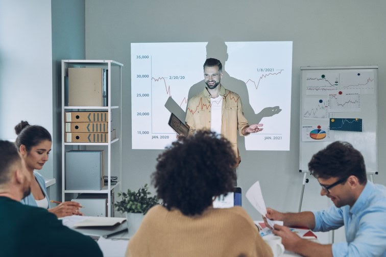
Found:
[[[332,244],[333,256],[386,257],[386,187],[368,181],[351,209],[332,205],[313,215],[316,232],[345,226],[347,242]]]

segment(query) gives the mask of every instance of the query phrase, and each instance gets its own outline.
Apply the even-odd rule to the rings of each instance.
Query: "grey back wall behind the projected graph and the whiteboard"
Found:
[[[300,66],[379,65],[378,160],[379,167],[384,167],[381,157],[386,138],[382,128],[386,124],[380,119],[385,110],[382,99],[386,99],[384,10],[386,2],[381,0],[86,0],[86,58],[113,59],[125,65],[123,190],[149,183],[160,153],[131,149],[131,42],[205,42],[213,37],[224,41],[293,41],[291,149],[242,150],[243,162],[238,168],[244,192],[259,180],[266,204],[282,211],[297,211],[303,178],[298,172]],[[375,182],[386,184],[382,170]],[[303,210],[331,204],[319,192],[319,185],[311,178]],[[246,198],[243,203],[253,219],[261,219]],[[321,241],[329,238],[324,236]]]

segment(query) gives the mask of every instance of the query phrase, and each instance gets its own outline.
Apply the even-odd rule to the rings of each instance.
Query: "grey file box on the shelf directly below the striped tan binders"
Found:
[[[66,152],[66,190],[101,190],[104,185],[103,150]]]

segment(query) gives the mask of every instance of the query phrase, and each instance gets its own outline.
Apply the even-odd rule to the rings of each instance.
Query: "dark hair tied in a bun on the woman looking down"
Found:
[[[20,150],[20,145],[25,145],[29,152],[33,146],[38,145],[43,140],[52,142],[50,132],[42,126],[30,125],[28,121],[20,121],[15,126],[15,132],[17,135],[15,144],[18,150]]]

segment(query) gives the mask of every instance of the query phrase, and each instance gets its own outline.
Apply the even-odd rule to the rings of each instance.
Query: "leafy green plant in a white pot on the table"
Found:
[[[158,204],[158,197],[151,196],[148,184],[139,188],[138,191],[127,190],[127,193],[118,193],[121,197],[120,201],[115,203],[116,210],[121,213],[126,213],[127,226],[129,236],[133,236],[138,229],[144,215],[154,205]]]

